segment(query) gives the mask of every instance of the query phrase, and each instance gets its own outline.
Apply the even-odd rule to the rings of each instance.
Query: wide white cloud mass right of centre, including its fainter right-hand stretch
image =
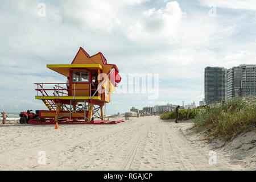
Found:
[[[127,36],[134,42],[167,42],[183,47],[218,47],[236,32],[237,24],[220,24],[208,14],[187,15],[176,1],[162,9],[144,11],[142,18],[129,26]],[[223,39],[224,38],[224,39]]]

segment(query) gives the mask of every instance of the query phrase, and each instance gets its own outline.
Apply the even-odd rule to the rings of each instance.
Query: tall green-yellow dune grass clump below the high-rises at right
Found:
[[[230,140],[256,126],[256,97],[237,97],[201,109],[195,116],[195,128],[210,136]]]

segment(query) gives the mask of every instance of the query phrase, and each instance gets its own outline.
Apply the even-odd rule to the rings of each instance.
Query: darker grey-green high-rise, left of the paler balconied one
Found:
[[[204,96],[207,104],[226,100],[226,69],[206,67],[204,69]]]

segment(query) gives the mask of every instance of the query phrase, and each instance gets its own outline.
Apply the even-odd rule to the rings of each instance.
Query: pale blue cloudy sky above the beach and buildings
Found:
[[[106,114],[199,105],[205,67],[256,64],[254,0],[1,0],[0,24],[0,110],[7,112],[47,109],[34,83],[65,82],[46,64],[71,64],[79,47],[102,52],[123,77],[158,75],[158,97],[116,90]]]

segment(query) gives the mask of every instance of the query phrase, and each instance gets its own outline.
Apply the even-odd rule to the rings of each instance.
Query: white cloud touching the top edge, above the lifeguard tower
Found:
[[[83,28],[111,31],[119,26],[122,20],[118,18],[119,10],[124,6],[138,5],[148,0],[97,0],[97,1],[61,1],[64,20],[79,23]]]

